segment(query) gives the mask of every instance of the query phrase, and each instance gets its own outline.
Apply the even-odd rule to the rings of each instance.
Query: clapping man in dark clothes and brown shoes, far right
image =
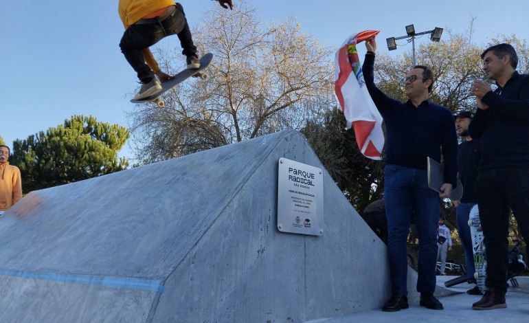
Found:
[[[529,75],[516,71],[518,57],[509,44],[488,47],[481,58],[497,89],[475,81],[470,92],[478,109],[469,132],[482,142],[476,193],[487,254],[487,290],[472,308],[501,309],[507,307],[509,208],[529,238]]]

